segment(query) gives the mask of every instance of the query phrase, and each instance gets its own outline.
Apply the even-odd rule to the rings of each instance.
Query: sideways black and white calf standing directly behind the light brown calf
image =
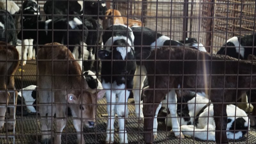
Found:
[[[77,17],[70,18],[69,21],[67,19],[59,19],[55,21],[38,21],[38,29],[41,29],[40,31],[36,30],[37,21],[23,22],[23,27],[23,39],[34,39],[39,45],[52,43],[52,29],[54,29],[53,42],[58,42],[64,45],[69,44],[68,49],[72,52],[74,58],[76,60],[79,60],[78,63],[81,66],[81,68],[82,59],[84,58],[84,60],[87,60],[89,57],[89,51],[86,47],[88,29],[83,25],[83,22]],[[33,31],[26,29],[33,29]],[[66,29],[69,30],[63,31]],[[21,39],[21,34],[21,32],[18,34],[19,39]]]

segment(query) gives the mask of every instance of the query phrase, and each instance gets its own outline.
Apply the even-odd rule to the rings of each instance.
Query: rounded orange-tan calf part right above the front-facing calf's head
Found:
[[[106,29],[113,24],[124,24],[123,18],[121,17],[121,13],[114,9],[108,9],[105,12],[105,17],[102,21],[102,28]],[[114,20],[113,20],[114,19]]]

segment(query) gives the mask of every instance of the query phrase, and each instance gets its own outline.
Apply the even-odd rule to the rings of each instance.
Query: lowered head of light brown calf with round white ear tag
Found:
[[[96,114],[96,104],[97,100],[102,99],[105,94],[105,90],[99,90],[96,93],[92,93],[89,89],[88,84],[84,79],[84,89],[83,92],[80,91],[70,91],[66,97],[70,105],[72,116],[76,118],[82,118],[83,125],[87,127],[93,127],[95,125],[95,114]]]

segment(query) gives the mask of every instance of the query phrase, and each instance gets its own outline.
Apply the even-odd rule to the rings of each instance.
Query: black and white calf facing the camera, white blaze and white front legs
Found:
[[[126,25],[112,25],[107,30],[110,31],[106,31],[102,37],[104,49],[99,51],[99,58],[102,60],[101,81],[103,88],[106,89],[109,116],[105,142],[114,142],[114,120],[117,114],[119,142],[128,143],[124,117],[128,113],[127,101],[130,90],[125,89],[132,89],[132,79],[136,69],[135,61],[131,61],[135,60],[134,36],[131,28]]]

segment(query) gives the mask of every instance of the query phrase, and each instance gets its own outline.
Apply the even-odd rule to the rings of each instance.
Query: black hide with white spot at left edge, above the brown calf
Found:
[[[5,10],[0,10],[0,41],[7,42],[11,45],[17,44],[15,22],[12,15]]]

